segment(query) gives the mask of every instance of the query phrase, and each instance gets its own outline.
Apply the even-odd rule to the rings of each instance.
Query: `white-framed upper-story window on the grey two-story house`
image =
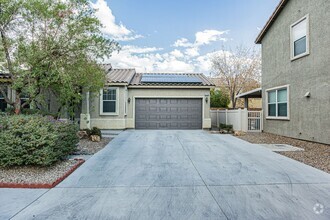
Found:
[[[291,59],[309,54],[309,16],[291,25]]]

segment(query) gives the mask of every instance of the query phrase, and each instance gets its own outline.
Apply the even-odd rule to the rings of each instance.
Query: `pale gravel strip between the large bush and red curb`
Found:
[[[77,160],[65,160],[51,167],[0,168],[0,183],[52,184],[78,163]]]

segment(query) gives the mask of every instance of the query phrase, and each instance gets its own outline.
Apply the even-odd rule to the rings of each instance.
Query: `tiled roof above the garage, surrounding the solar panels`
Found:
[[[185,76],[188,78],[196,78],[199,82],[141,82],[143,75],[163,75],[170,78]],[[136,73],[130,82],[131,86],[214,86],[207,77],[202,73]]]

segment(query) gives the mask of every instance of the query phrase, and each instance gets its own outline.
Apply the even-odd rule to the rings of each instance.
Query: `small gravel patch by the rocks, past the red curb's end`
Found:
[[[103,149],[112,138],[102,138],[100,142],[92,142],[88,139],[81,139],[78,144],[76,155],[92,155]]]

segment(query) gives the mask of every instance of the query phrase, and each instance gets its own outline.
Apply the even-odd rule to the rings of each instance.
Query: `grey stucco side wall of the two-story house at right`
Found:
[[[290,26],[309,14],[310,54],[291,60]],[[264,120],[264,131],[330,144],[330,1],[290,0],[262,39],[266,90],[289,85],[289,119]],[[305,94],[310,92],[310,98]]]

